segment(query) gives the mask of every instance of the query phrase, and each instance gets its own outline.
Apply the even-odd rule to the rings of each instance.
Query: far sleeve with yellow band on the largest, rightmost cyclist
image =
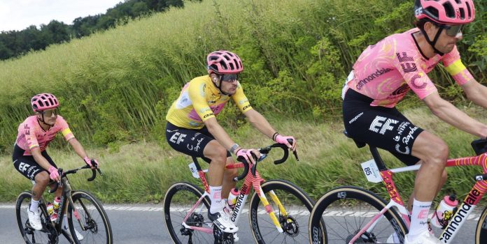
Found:
[[[463,65],[462,60],[460,59],[460,53],[458,52],[456,46],[453,48],[453,50],[451,50],[451,52],[442,57],[442,62],[446,71],[448,71],[453,79],[455,79],[458,85],[461,86],[469,82],[471,79],[474,79],[465,65]]]

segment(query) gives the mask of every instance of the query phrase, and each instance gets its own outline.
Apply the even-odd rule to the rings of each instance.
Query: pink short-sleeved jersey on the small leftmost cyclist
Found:
[[[25,150],[24,155],[32,155],[32,148],[38,147],[41,151],[44,151],[59,131],[62,132],[66,141],[74,138],[73,133],[69,130],[68,123],[66,123],[62,116],[58,115],[54,126],[47,131],[41,128],[35,115],[29,116],[19,125],[17,141],[15,143]]]

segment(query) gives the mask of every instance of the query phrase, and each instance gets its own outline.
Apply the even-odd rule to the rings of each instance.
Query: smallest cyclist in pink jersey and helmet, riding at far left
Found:
[[[29,116],[24,122],[20,123],[12,158],[15,169],[26,178],[36,182],[32,187],[32,199],[27,213],[31,227],[41,230],[41,213],[38,209],[39,199],[46,186],[61,179],[57,166],[47,151],[45,151],[45,148],[55,138],[57,132],[62,132],[66,142],[73,147],[76,154],[83,158],[87,165],[90,165],[92,169],[94,169],[94,166],[92,166],[91,159],[88,158],[83,146],[69,129],[68,123],[62,116],[58,115],[57,107],[59,107],[59,101],[54,95],[41,93],[34,96],[31,99],[31,107],[35,115]],[[95,160],[95,162],[97,161]],[[55,192],[55,197],[61,197],[61,195],[62,185],[59,185]],[[67,221],[64,222],[67,223]],[[67,229],[67,226],[64,229]],[[77,231],[76,236],[78,236],[78,240],[83,238]]]

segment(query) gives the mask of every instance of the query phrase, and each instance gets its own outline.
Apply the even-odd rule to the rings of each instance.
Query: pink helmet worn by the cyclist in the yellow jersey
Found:
[[[215,51],[206,56],[209,73],[236,74],[244,70],[242,61],[237,54],[225,50]]]

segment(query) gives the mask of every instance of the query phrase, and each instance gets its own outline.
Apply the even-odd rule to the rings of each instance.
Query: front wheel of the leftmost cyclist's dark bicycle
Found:
[[[71,198],[74,206],[68,205],[68,224],[73,241],[76,244],[113,243],[110,221],[100,201],[85,191],[73,192]]]

